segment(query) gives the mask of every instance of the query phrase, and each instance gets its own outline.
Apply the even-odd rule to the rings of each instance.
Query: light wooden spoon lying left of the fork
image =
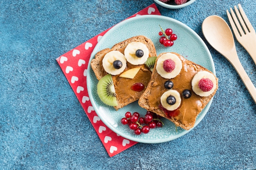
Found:
[[[202,32],[209,44],[234,66],[256,103],[256,88],[238,58],[233,34],[227,22],[217,15],[209,16],[202,23]]]

